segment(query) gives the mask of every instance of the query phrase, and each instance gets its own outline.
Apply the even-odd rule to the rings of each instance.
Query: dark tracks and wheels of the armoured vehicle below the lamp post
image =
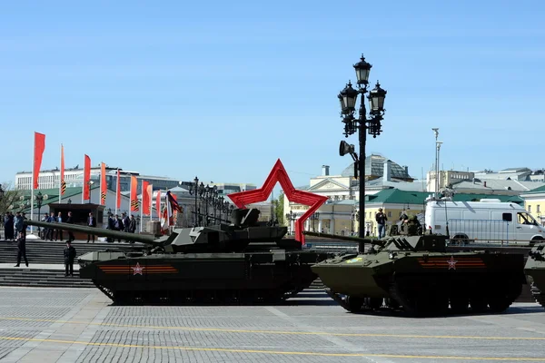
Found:
[[[459,280],[445,284],[444,280],[426,280],[421,276],[401,277],[390,281],[386,299],[343,297],[331,289],[325,291],[350,312],[401,309],[410,316],[421,317],[500,313],[510,307],[522,290],[521,281],[508,278],[472,282]],[[545,294],[534,294],[534,297],[545,307]]]

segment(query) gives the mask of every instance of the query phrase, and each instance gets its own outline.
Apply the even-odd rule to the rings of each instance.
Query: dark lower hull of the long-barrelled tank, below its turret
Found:
[[[97,256],[102,258],[101,256]],[[256,304],[279,302],[309,287],[324,252],[187,253],[89,261],[91,279],[117,304]]]

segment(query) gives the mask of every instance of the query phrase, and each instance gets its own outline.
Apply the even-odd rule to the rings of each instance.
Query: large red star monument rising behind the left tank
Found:
[[[267,198],[269,198],[269,195],[271,195],[272,189],[274,188],[274,185],[276,185],[276,182],[280,183],[280,186],[288,198],[288,201],[310,206],[309,210],[306,211],[297,221],[295,221],[295,240],[299,240],[302,244],[304,244],[302,223],[308,220],[309,217],[312,216],[312,213],[317,211],[318,208],[320,208],[322,204],[327,201],[327,197],[308,191],[296,190],[293,187],[292,181],[290,180],[290,177],[284,169],[280,159],[278,159],[278,161],[276,161],[272,167],[269,176],[263,183],[263,187],[254,189],[253,191],[239,191],[228,194],[227,196],[238,208],[246,208],[247,204],[266,201]]]

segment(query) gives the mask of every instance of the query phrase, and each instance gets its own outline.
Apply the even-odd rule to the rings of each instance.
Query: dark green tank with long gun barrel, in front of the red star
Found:
[[[283,238],[286,227],[258,217],[257,209],[234,210],[232,223],[173,229],[160,237],[66,223],[54,228],[144,243],[140,250],[78,258],[80,277],[93,280],[117,304],[280,302],[309,287],[317,279],[312,264],[332,254],[302,249],[301,242]]]

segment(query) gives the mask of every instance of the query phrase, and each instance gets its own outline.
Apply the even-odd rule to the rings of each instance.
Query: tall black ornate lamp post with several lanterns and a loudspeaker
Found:
[[[359,237],[363,238],[365,235],[365,142],[367,141],[367,133],[376,137],[381,134],[381,120],[384,114],[384,98],[386,97],[386,91],[381,89],[381,84],[376,83],[375,88],[369,92],[367,97],[369,100],[370,112],[369,118],[367,117],[367,110],[365,108],[365,93],[367,93],[367,84],[369,83],[369,73],[372,68],[372,64],[365,62],[365,58],[362,55],[360,62],[353,65],[356,71],[356,77],[358,80],[358,90],[352,88],[352,83],[349,81],[346,87],[339,93],[338,98],[341,103],[341,117],[342,123],[344,123],[344,136],[348,137],[356,131],[359,131],[359,143],[360,154],[356,155],[353,145],[342,141],[339,149],[341,156],[350,153],[354,160],[354,177],[358,178],[358,172],[360,174],[360,219],[358,225]],[[356,102],[360,97],[360,109],[359,117],[355,118],[354,113],[356,111]],[[356,166],[356,162],[357,165]]]

